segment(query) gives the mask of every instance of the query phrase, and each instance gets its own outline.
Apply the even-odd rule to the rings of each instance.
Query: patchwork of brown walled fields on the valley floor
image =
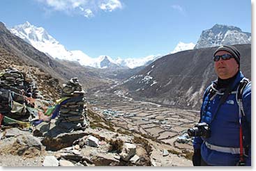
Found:
[[[105,91],[86,97],[89,106],[123,129],[142,133],[181,149],[192,150],[192,138],[187,130],[198,121],[199,111],[170,108]]]

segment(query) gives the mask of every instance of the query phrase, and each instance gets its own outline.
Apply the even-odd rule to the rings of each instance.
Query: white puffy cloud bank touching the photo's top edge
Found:
[[[122,8],[120,0],[36,0],[47,7],[47,10],[61,11],[68,15],[93,17],[98,10],[112,12]],[[98,4],[98,5],[96,5]]]

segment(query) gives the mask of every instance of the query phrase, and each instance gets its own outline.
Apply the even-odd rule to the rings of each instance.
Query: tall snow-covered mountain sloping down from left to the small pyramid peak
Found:
[[[45,54],[60,60],[77,61],[81,65],[100,68],[100,62],[104,57],[91,58],[80,50],[68,51],[62,44],[48,34],[45,29],[33,26],[29,22],[14,26],[10,29],[10,32],[22,38],[39,51],[43,51]]]

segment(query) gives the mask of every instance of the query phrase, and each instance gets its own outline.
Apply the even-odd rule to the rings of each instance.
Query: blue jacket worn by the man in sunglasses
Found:
[[[243,77],[241,72],[236,75],[236,79],[232,85],[232,91],[236,91],[236,88]],[[236,165],[236,162],[239,161],[239,154],[218,152],[209,149],[204,143],[204,141],[206,141],[211,145],[220,147],[239,148],[239,106],[236,103],[236,95],[231,94],[227,97],[225,103],[219,107],[218,113],[215,114],[216,116],[213,119],[213,115],[222,95],[217,94],[213,99],[209,100],[209,95],[206,95],[206,92],[204,92],[204,94],[205,98],[201,107],[200,114],[202,117],[200,122],[209,124],[209,127],[211,128],[211,136],[210,138],[195,137],[193,140],[193,147],[194,149],[201,148],[201,156],[209,165]],[[246,114],[246,122],[244,122],[242,127],[243,136],[246,138],[244,144],[249,146],[246,165],[251,165],[251,83],[248,83],[243,90],[242,101],[243,110]]]

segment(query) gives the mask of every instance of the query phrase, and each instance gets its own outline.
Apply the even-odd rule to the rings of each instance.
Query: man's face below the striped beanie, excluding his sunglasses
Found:
[[[224,54],[232,55],[228,51],[218,51],[216,56]],[[220,58],[220,60],[214,62],[214,69],[220,79],[229,79],[239,70],[239,64],[236,63],[234,58],[229,58],[228,60]]]

